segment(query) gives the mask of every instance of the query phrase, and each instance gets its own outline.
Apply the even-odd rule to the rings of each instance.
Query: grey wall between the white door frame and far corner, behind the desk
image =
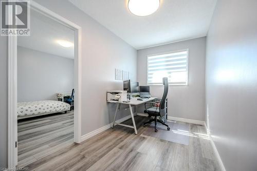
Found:
[[[82,27],[82,135],[111,123],[116,105],[106,103],[106,91],[123,88],[115,68],[136,75],[137,51],[68,1],[36,2]]]

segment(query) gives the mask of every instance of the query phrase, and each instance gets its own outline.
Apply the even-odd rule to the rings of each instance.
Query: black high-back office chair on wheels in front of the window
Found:
[[[149,117],[154,117],[154,119],[150,119],[150,121],[145,122],[144,123],[144,127],[146,127],[145,124],[154,122],[155,126],[155,132],[157,132],[158,130],[156,129],[156,124],[157,122],[161,123],[162,125],[167,126],[167,130],[170,130],[169,125],[165,124],[164,122],[162,122],[161,120],[157,119],[157,117],[164,117],[166,115],[166,99],[167,99],[167,95],[168,95],[168,89],[169,89],[169,82],[168,82],[168,78],[162,78],[162,84],[164,85],[164,92],[163,92],[163,96],[161,98],[159,107],[157,103],[154,102],[146,102],[144,104],[145,110],[144,113],[148,113]],[[146,108],[146,105],[149,105],[151,107]]]

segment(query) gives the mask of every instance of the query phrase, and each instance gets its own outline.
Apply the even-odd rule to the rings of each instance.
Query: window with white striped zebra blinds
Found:
[[[188,84],[188,49],[148,56],[148,84]]]

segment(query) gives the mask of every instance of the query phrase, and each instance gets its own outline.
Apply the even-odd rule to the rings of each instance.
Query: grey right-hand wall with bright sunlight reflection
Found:
[[[257,1],[218,1],[207,36],[209,129],[227,170],[257,170]]]

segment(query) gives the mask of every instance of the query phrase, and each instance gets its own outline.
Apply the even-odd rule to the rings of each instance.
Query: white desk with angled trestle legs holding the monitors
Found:
[[[130,100],[130,102],[128,103],[125,103],[125,102],[119,102],[119,101],[107,101],[109,103],[117,103],[117,107],[116,107],[116,111],[115,111],[115,115],[114,115],[114,120],[113,120],[113,127],[114,125],[121,125],[121,126],[125,126],[125,127],[129,127],[129,128],[134,128],[135,130],[135,134],[137,134],[137,127],[136,127],[136,124],[135,124],[135,120],[134,120],[134,115],[133,115],[133,111],[132,111],[132,105],[134,106],[137,106],[137,105],[140,105],[140,104],[143,104],[143,103],[146,103],[146,102],[149,102],[149,101],[152,101],[156,98],[149,98],[147,100],[137,100],[137,98],[133,98]],[[117,115],[117,112],[118,112],[118,109],[120,107],[120,104],[126,104],[130,107],[130,113],[131,113],[131,119],[132,119],[132,122],[133,122],[133,126],[131,125],[125,125],[125,124],[121,124],[121,123],[116,123],[115,122],[115,118],[116,118],[116,115]],[[137,111],[136,111],[137,112]]]

